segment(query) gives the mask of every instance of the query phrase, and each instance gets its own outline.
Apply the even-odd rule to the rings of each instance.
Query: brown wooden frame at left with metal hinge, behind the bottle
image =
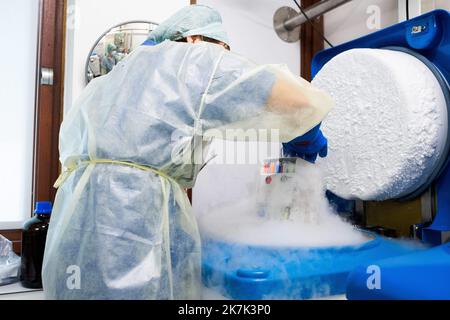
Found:
[[[39,0],[30,217],[36,201],[54,201],[53,184],[60,172],[58,138],[64,103],[66,9],[67,0]],[[53,70],[52,85],[41,83],[42,68]],[[12,242],[15,253],[21,253],[20,229],[0,230],[0,234]]]

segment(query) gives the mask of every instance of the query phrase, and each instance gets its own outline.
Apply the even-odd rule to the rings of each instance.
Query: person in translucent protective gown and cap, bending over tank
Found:
[[[207,6],[180,10],[149,39],[156,45],[91,81],[63,121],[47,299],[201,298],[199,232],[185,189],[210,140],[272,129],[289,142],[332,108],[286,67],[226,50],[221,17]]]

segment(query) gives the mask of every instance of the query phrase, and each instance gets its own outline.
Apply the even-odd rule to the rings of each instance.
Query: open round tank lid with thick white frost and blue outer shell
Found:
[[[345,199],[410,199],[449,159],[449,14],[435,11],[319,53],[313,83],[336,108],[327,187]]]

